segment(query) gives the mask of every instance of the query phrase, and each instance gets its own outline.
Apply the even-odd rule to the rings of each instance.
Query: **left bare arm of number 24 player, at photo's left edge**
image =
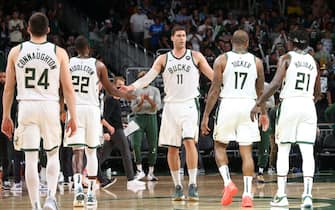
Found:
[[[11,49],[8,55],[7,67],[6,67],[6,82],[5,88],[2,96],[3,102],[3,115],[2,115],[2,125],[1,131],[6,134],[6,136],[11,139],[14,125],[10,115],[10,110],[12,108],[13,99],[14,99],[14,90],[16,84],[15,77],[15,59],[19,54],[19,46],[16,46]]]

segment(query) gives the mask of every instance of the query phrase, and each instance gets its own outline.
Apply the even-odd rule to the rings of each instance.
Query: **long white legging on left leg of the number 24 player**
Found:
[[[33,208],[41,208],[39,185],[40,179],[38,177],[37,163],[38,152],[25,152],[25,180],[29,192],[30,202]]]

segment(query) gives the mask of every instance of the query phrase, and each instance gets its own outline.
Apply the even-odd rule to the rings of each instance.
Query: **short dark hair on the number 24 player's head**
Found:
[[[28,21],[29,29],[34,36],[44,36],[48,33],[49,20],[42,12],[34,13]]]

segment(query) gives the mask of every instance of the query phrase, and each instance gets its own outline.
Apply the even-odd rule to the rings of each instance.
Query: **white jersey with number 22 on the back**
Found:
[[[77,105],[99,106],[99,78],[95,58],[70,59],[72,84],[76,93]]]

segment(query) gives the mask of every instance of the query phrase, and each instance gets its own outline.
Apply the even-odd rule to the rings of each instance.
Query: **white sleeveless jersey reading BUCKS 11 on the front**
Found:
[[[187,101],[199,96],[199,70],[194,64],[192,51],[186,50],[184,56],[176,58],[172,51],[166,53],[163,71],[166,102]]]

